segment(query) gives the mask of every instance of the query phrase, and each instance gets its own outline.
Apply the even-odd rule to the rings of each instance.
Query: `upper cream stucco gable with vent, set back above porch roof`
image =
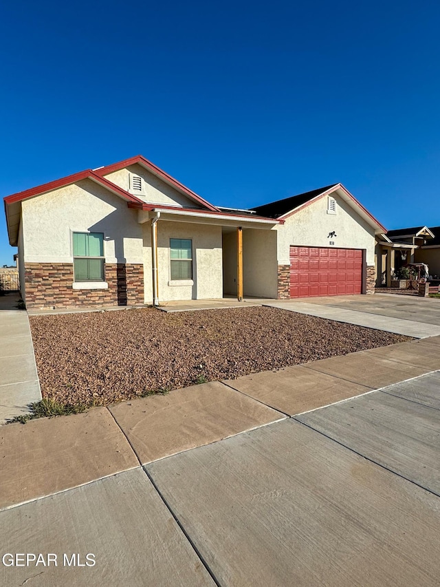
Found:
[[[130,189],[130,173],[139,175],[144,180],[142,182],[142,192]],[[157,178],[153,173],[150,173],[139,164],[130,165],[119,171],[113,171],[113,173],[109,173],[105,177],[122,189],[133,193],[140,200],[144,200],[144,202],[178,205],[184,208],[201,207],[197,202],[186,198],[186,196],[179,193],[179,191]]]

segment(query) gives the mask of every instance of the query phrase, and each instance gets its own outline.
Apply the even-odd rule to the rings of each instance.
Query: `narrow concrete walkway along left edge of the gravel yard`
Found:
[[[0,297],[0,424],[41,400],[28,314],[14,309],[17,301],[14,294]]]

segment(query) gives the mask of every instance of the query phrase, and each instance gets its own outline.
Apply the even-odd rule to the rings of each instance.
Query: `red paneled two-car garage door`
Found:
[[[362,250],[290,247],[290,297],[361,293]]]

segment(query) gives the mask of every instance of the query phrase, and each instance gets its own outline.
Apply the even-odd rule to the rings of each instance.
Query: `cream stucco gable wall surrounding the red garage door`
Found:
[[[366,249],[366,264],[374,265],[374,230],[337,194],[336,214],[327,214],[327,197],[287,218],[285,224],[277,226],[278,265],[289,265],[289,247],[322,246],[328,247],[333,241],[335,248]],[[328,238],[335,231],[336,237]]]

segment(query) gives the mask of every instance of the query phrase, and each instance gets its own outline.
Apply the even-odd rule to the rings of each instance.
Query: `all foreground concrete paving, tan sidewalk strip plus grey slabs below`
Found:
[[[1,427],[3,553],[58,565],[0,564],[0,585],[436,584],[439,351],[434,337]]]

